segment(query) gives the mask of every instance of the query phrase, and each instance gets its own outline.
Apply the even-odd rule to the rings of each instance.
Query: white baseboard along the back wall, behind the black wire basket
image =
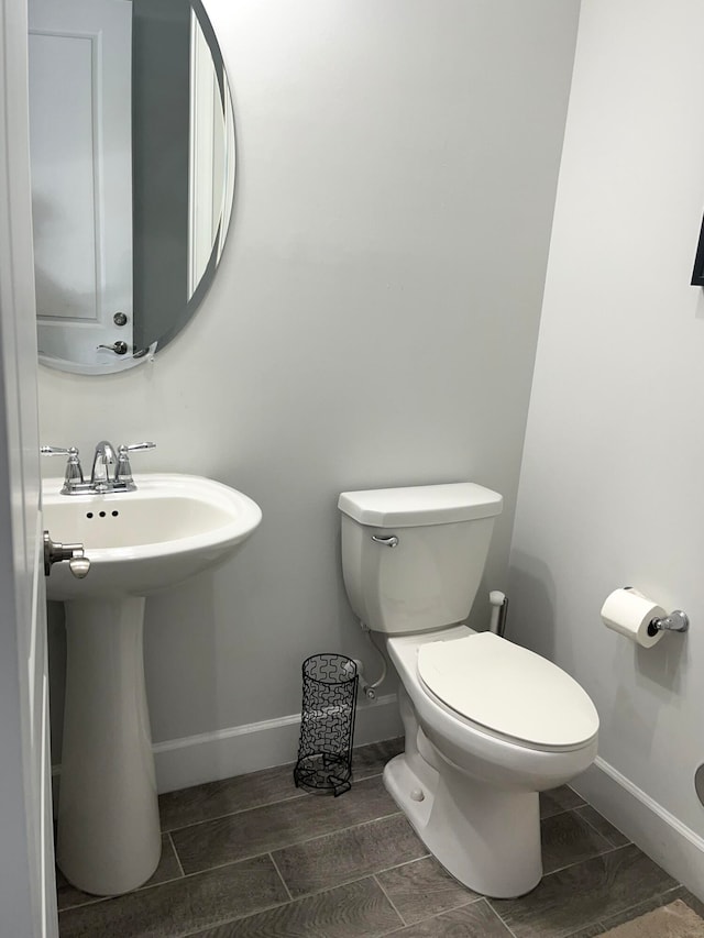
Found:
[[[157,742],[154,749],[156,785],[161,792],[187,788],[201,782],[243,775],[272,765],[295,762],[300,714],[256,724]],[[403,733],[395,694],[374,703],[360,703],[354,744],[392,739]]]

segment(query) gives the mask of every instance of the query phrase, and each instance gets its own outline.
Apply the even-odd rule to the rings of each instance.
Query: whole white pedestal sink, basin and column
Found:
[[[66,608],[67,666],[57,861],[96,895],[146,882],[161,854],[144,687],[145,597],[226,559],[262,519],[258,506],[199,476],[135,476],[136,492],[59,495],[45,479],[45,527],[80,542],[85,580],[56,564],[50,599]]]

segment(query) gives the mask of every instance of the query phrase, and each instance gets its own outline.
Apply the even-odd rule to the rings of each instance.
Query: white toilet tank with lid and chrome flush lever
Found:
[[[502,504],[471,482],[343,492],[342,573],[355,615],[389,634],[463,621]]]

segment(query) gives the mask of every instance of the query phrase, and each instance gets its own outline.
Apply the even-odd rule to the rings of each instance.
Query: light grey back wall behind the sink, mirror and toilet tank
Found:
[[[485,586],[505,585],[578,14],[207,5],[239,145],[216,284],[153,366],[41,374],[44,441],[89,465],[103,437],[154,439],[135,471],[212,476],[264,512],[226,567],[147,604],[156,741],[295,713],[310,653],[374,664],[341,582],[341,490],[498,489]]]

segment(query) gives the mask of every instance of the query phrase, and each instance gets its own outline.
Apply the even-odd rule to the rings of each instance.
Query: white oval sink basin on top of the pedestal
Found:
[[[136,492],[59,495],[63,479],[45,479],[44,527],[55,541],[82,543],[91,563],[85,580],[55,564],[50,599],[147,596],[222,560],[262,520],[251,498],[209,478],[154,473],[134,481]]]

